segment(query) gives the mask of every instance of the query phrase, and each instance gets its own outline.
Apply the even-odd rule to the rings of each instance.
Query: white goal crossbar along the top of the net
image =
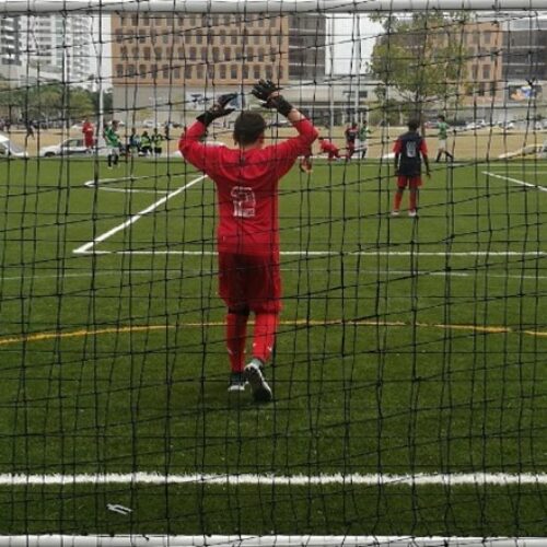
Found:
[[[356,13],[424,10],[545,10],[545,0],[0,0],[0,14],[25,13]]]

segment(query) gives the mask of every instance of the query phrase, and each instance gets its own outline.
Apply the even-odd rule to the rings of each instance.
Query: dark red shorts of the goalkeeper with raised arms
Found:
[[[255,313],[280,312],[278,256],[219,252],[219,293],[228,307],[248,307]]]

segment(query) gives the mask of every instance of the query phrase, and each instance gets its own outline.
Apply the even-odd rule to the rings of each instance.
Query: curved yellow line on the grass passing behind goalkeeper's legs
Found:
[[[253,322],[249,322],[253,324]],[[458,325],[458,324],[442,324],[442,323],[405,323],[401,321],[374,321],[374,319],[283,319],[280,322],[283,326],[362,326],[362,327],[418,327],[418,328],[439,328],[443,330],[464,330],[470,333],[485,334],[522,334],[526,336],[547,337],[546,330],[519,330],[507,326],[481,326],[481,325]],[[135,325],[120,327],[106,327],[95,329],[80,329],[68,331],[48,331],[48,333],[32,333],[22,336],[10,336],[0,338],[0,346],[11,346],[15,344],[27,344],[35,341],[57,340],[61,338],[82,338],[84,336],[101,336],[113,334],[128,333],[147,333],[151,330],[167,330],[182,327],[223,327],[224,322],[190,322],[179,323],[178,325]]]

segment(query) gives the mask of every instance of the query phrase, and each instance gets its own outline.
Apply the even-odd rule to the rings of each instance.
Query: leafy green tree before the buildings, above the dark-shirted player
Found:
[[[375,19],[386,32],[374,46],[371,71],[386,89],[412,103],[418,117],[426,105],[457,100],[466,71],[465,16],[435,11]]]

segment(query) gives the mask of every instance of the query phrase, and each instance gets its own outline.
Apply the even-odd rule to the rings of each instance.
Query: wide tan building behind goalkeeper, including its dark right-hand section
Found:
[[[114,106],[129,121],[183,120],[199,97],[259,78],[295,88],[325,75],[325,15],[113,15],[112,33]]]

